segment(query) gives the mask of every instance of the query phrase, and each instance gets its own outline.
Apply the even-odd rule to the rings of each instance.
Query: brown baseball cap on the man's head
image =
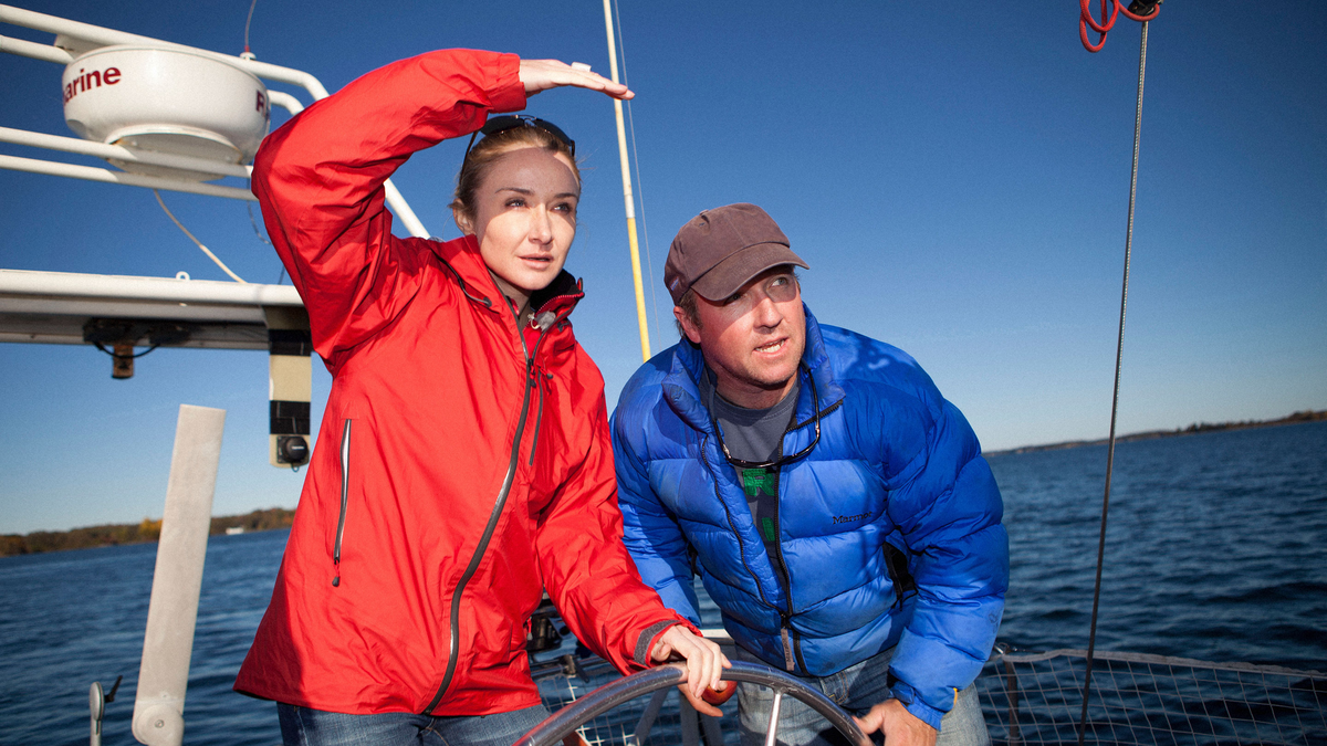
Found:
[[[774,218],[739,202],[706,210],[682,226],[664,263],[664,284],[674,305],[687,289],[706,300],[722,300],[780,264],[811,268],[788,248],[788,236]]]

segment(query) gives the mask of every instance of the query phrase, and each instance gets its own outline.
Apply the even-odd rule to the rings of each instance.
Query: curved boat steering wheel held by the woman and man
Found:
[[[733,661],[733,668],[726,669],[722,678],[723,681],[744,681],[774,689],[774,705],[770,709],[766,746],[774,746],[775,743],[779,730],[779,706],[783,702],[784,694],[820,713],[839,733],[848,738],[849,743],[871,746],[871,739],[857,727],[852,715],[843,711],[839,705],[835,705],[820,692],[808,688],[805,684],[783,672],[762,665]],[[686,681],[686,669],[682,668],[682,664],[657,666],[610,681],[557,710],[512,746],[560,746],[563,738],[576,733],[576,729],[613,708],[644,694],[677,686],[683,681]]]

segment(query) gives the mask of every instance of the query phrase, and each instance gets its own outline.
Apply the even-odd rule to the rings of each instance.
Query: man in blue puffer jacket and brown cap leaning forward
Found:
[[[664,281],[686,338],[613,413],[626,547],[694,623],[698,572],[739,658],[819,686],[889,746],[986,743],[973,680],[1009,584],[995,479],[917,362],[817,324],[794,267],[754,204],[674,239]],[[772,693],[738,696],[743,743],[763,742]],[[800,702],[780,713],[780,742],[832,742]]]

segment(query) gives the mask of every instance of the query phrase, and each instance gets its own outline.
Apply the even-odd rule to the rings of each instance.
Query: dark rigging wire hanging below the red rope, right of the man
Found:
[[[1087,8],[1087,1],[1088,0],[1083,0],[1084,8]],[[1116,8],[1119,8],[1119,0],[1115,0],[1115,4]],[[1105,0],[1103,0],[1103,16],[1104,5]],[[1160,11],[1160,8],[1157,11]],[[1149,17],[1156,17],[1157,11],[1153,11]],[[1085,35],[1083,36],[1083,45],[1088,48],[1088,52],[1096,52],[1104,44],[1105,32],[1101,32],[1101,41],[1097,44],[1096,49],[1087,42]],[[1115,346],[1115,393],[1111,397],[1111,437],[1105,451],[1105,494],[1101,498],[1101,532],[1096,547],[1096,583],[1092,587],[1092,623],[1087,641],[1087,672],[1083,674],[1083,711],[1079,715],[1079,746],[1083,746],[1083,739],[1087,737],[1087,705],[1088,697],[1092,693],[1092,653],[1096,648],[1096,620],[1097,609],[1100,608],[1101,601],[1101,565],[1105,559],[1105,519],[1111,510],[1111,475],[1115,470],[1115,422],[1120,409],[1120,366],[1124,360],[1124,312],[1129,301],[1129,258],[1133,250],[1133,206],[1139,191],[1139,142],[1143,134],[1143,81],[1147,69],[1148,19],[1143,19],[1143,41],[1139,50],[1139,100],[1133,115],[1133,167],[1129,174],[1129,223],[1124,234],[1124,283],[1120,291],[1120,333]]]

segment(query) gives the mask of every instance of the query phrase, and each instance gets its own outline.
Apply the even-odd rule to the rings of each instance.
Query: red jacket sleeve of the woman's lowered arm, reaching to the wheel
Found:
[[[622,673],[649,668],[660,634],[686,624],[641,583],[622,546],[608,411],[600,397],[585,461],[559,490],[536,539],[544,587],[576,638]],[[695,627],[687,624],[699,634]]]

